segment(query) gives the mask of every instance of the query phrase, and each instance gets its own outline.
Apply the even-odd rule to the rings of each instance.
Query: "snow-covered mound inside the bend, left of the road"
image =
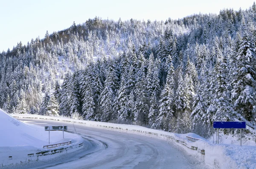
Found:
[[[20,163],[31,163],[31,161],[47,160],[57,157],[65,152],[52,153],[52,150],[44,149],[49,145],[49,132],[44,127],[26,125],[0,109],[0,168],[3,166],[15,166]],[[75,150],[76,144],[81,144],[83,139],[75,134],[65,132],[64,138],[61,131],[50,133],[50,144],[58,144],[71,141],[70,145],[61,148],[71,147]],[[74,147],[75,146],[75,147]],[[40,152],[47,152],[48,155],[41,155]],[[69,152],[72,152],[70,150]],[[51,154],[51,155],[50,155]],[[54,155],[53,155],[54,154]],[[44,156],[44,157],[43,157]]]

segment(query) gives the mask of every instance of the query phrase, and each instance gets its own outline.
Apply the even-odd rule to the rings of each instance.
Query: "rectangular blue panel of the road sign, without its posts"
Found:
[[[215,128],[215,129],[245,129],[246,123],[244,121],[213,121],[213,128]]]

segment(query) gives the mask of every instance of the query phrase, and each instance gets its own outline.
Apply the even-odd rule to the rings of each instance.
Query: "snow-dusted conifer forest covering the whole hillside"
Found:
[[[70,25],[0,53],[3,110],[203,137],[213,121],[246,121],[256,139],[255,3],[179,20]]]

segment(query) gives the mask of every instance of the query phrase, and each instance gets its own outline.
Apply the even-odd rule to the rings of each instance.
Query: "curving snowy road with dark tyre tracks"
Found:
[[[67,125],[74,132],[73,124],[68,122],[29,119],[29,124],[39,126]],[[102,130],[75,124],[76,132],[89,147],[83,152],[58,160],[44,163],[40,169],[202,169],[199,163],[183,150],[164,140],[144,135]]]

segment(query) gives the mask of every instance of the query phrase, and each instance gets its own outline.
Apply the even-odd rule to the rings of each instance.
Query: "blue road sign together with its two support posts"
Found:
[[[219,129],[240,129],[240,146],[242,146],[242,129],[246,128],[244,121],[213,121],[213,128],[217,129],[217,144],[219,143]]]

